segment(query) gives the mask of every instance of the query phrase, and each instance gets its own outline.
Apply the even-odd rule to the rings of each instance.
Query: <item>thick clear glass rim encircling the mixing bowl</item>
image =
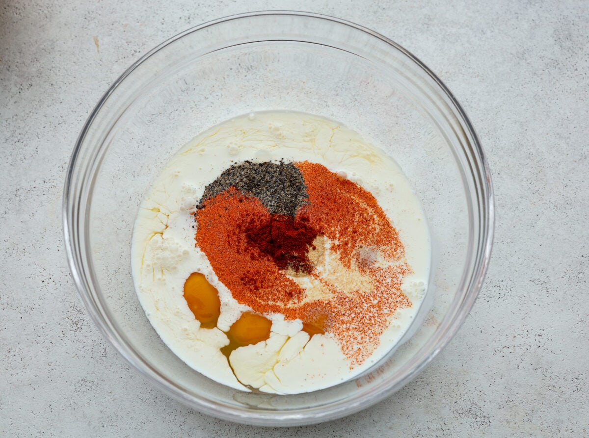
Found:
[[[120,337],[117,336],[117,333],[115,333],[115,330],[108,323],[108,320],[105,319],[104,316],[102,316],[101,311],[97,308],[93,298],[91,297],[91,293],[87,290],[87,286],[85,285],[86,281],[84,280],[84,267],[81,265],[81,262],[80,260],[78,260],[76,255],[77,246],[79,245],[76,218],[77,214],[79,214],[80,211],[78,210],[79,205],[77,204],[78,198],[72,198],[72,194],[75,194],[75,190],[73,187],[74,173],[78,164],[78,159],[80,158],[82,145],[84,143],[88,130],[90,129],[92,122],[94,121],[98,112],[104,105],[105,101],[107,101],[108,97],[124,81],[124,79],[127,78],[128,75],[130,75],[131,72],[133,72],[139,65],[141,65],[144,61],[146,61],[156,52],[167,47],[167,45],[171,44],[174,41],[177,41],[177,39],[180,39],[185,35],[192,34],[193,32],[200,31],[201,29],[207,28],[209,26],[217,25],[223,22],[264,15],[292,15],[303,16],[309,19],[322,19],[327,21],[333,21],[340,25],[349,26],[350,28],[353,28],[356,31],[365,32],[366,34],[369,34],[374,38],[378,38],[380,41],[385,42],[388,45],[391,45],[392,48],[406,55],[406,57],[411,59],[411,61],[413,61],[418,68],[422,69],[422,71],[425,72],[426,75],[433,79],[433,81],[438,85],[438,87],[445,94],[445,97],[448,98],[449,102],[451,103],[452,110],[456,118],[458,119],[461,128],[465,132],[468,132],[471,138],[471,147],[474,152],[475,161],[478,161],[477,164],[479,167],[479,171],[481,171],[481,182],[483,184],[483,187],[481,187],[483,197],[479,201],[485,207],[484,211],[486,214],[483,221],[484,223],[481,224],[482,231],[480,234],[482,235],[482,237],[479,238],[479,247],[477,254],[475,254],[477,260],[474,264],[474,273],[472,275],[473,280],[471,281],[471,286],[469,290],[465,294],[464,301],[462,301],[461,306],[458,308],[458,311],[456,311],[456,313],[454,314],[454,318],[446,327],[444,327],[444,330],[442,330],[441,333],[438,334],[438,341],[435,344],[436,348],[429,351],[429,353],[427,353],[425,357],[423,357],[421,363],[419,363],[418,366],[414,367],[411,370],[411,372],[403,376],[402,379],[399,379],[397,383],[394,385],[390,384],[389,382],[385,382],[385,384],[380,385],[378,388],[372,389],[370,391],[365,391],[364,393],[360,393],[355,398],[346,400],[345,402],[339,402],[333,405],[330,404],[322,407],[314,407],[309,410],[271,412],[269,410],[237,409],[235,407],[230,407],[218,404],[216,402],[211,402],[210,400],[206,400],[203,398],[198,399],[197,397],[193,397],[189,394],[186,394],[180,387],[174,384],[173,381],[164,379],[160,376],[160,374],[156,373],[147,364],[145,364],[144,361],[142,361],[140,357],[138,357],[138,354],[135,353],[131,346],[124,345],[124,342],[120,339]],[[87,308],[87,311],[90,314],[92,320],[99,328],[102,335],[112,344],[112,346],[115,347],[118,353],[120,353],[121,356],[123,356],[123,358],[131,364],[131,366],[140,371],[140,373],[143,374],[145,378],[148,381],[150,381],[151,384],[153,384],[155,387],[158,387],[158,389],[162,390],[169,396],[179,400],[180,402],[183,402],[202,413],[209,414],[220,419],[263,426],[295,426],[300,424],[313,424],[347,416],[349,414],[358,412],[359,410],[366,409],[366,407],[372,406],[373,404],[378,403],[380,400],[383,400],[386,397],[391,396],[393,393],[395,393],[403,386],[405,386],[405,384],[409,383],[409,381],[413,380],[419,373],[421,373],[421,371],[429,363],[431,363],[434,357],[437,356],[438,353],[442,349],[444,349],[444,347],[449,343],[449,341],[451,341],[452,338],[455,336],[456,332],[458,331],[458,328],[462,325],[462,323],[464,323],[466,316],[468,316],[468,313],[471,310],[478,296],[478,292],[484,280],[485,274],[487,273],[487,268],[491,257],[495,221],[494,194],[491,183],[491,172],[489,171],[488,162],[485,158],[484,151],[482,150],[477,134],[475,133],[474,128],[471,125],[471,122],[468,120],[468,117],[466,117],[464,110],[462,109],[458,101],[456,101],[454,95],[452,95],[449,89],[446,88],[444,83],[438,77],[436,77],[436,75],[431,70],[429,70],[428,67],[426,67],[421,61],[419,61],[418,58],[412,55],[411,52],[396,44],[391,39],[378,34],[378,32],[372,31],[368,28],[365,28],[364,26],[355,24],[350,21],[346,21],[344,19],[335,18],[329,15],[315,14],[312,12],[302,11],[246,12],[244,14],[230,15],[212,21],[204,22],[203,24],[187,29],[186,31],[173,36],[167,41],[164,41],[157,47],[151,49],[151,51],[147,52],[147,54],[138,59],[138,61],[134,62],[134,64],[131,65],[131,67],[129,67],[111,85],[107,92],[105,92],[105,94],[102,96],[96,107],[92,110],[90,116],[84,124],[84,127],[82,128],[82,131],[80,132],[80,135],[77,139],[77,142],[75,144],[74,150],[70,158],[70,164],[68,166],[68,171],[65,178],[62,215],[64,227],[64,243],[68,258],[68,264],[70,266],[71,274],[74,278],[74,283],[77,287],[78,293],[80,294],[82,302]]]

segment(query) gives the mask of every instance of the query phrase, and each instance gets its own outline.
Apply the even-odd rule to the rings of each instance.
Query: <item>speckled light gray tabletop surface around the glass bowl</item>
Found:
[[[589,434],[589,3],[63,3],[0,0],[0,435]],[[337,15],[421,58],[477,129],[497,198],[491,268],[448,348],[391,399],[287,430],[202,416],[131,370],[85,313],[61,232],[65,168],[111,82],[177,32],[257,9]]]

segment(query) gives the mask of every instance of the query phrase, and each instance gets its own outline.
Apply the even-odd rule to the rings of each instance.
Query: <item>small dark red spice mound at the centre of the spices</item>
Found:
[[[292,268],[309,274],[313,265],[307,254],[318,233],[307,221],[305,217],[273,214],[261,226],[250,221],[244,231],[249,241],[262,253],[272,257],[280,269]]]

